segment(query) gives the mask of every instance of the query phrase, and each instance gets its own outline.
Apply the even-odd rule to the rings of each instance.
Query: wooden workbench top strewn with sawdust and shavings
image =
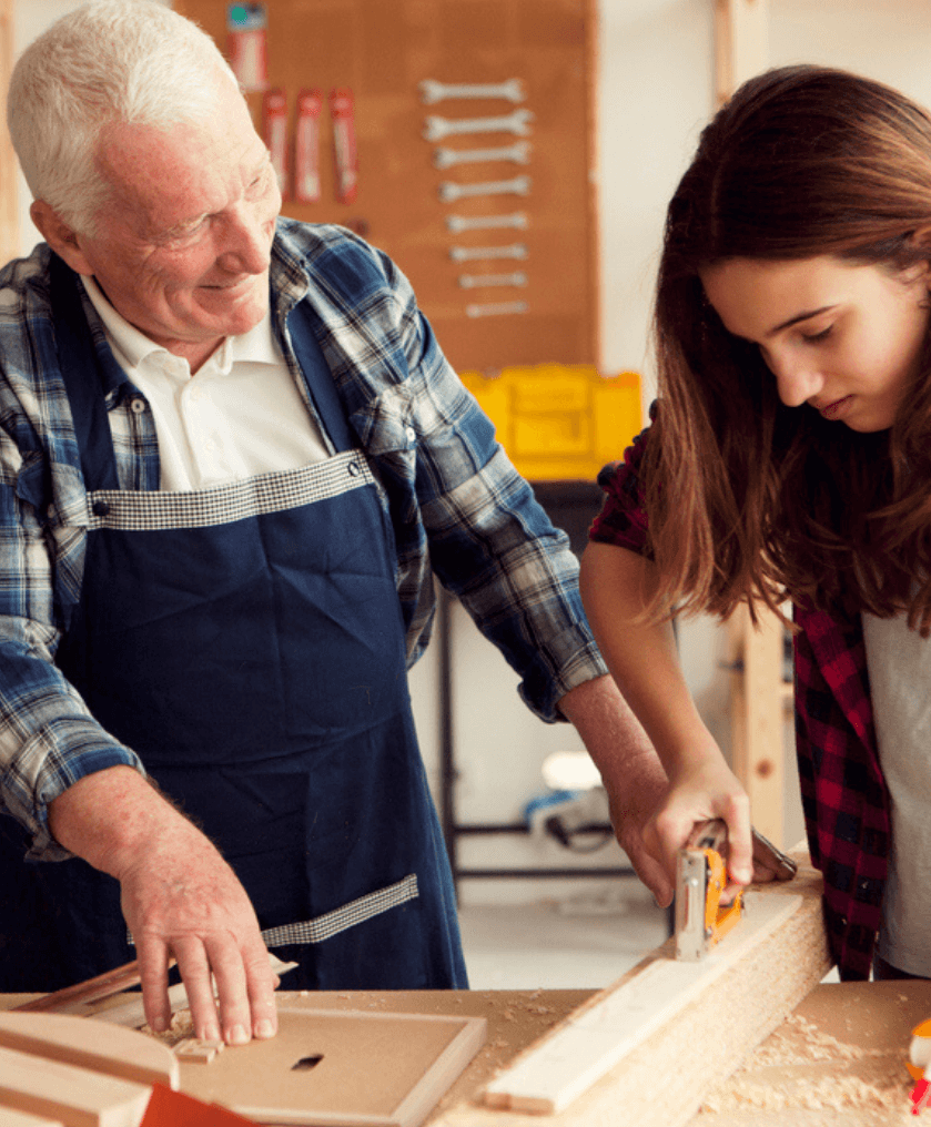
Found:
[[[484,1017],[488,1038],[471,1065],[427,1120],[442,1127],[523,1048],[595,993],[575,991],[345,991],[280,992],[283,1005],[400,1013]],[[8,1009],[34,995],[0,995]],[[912,1029],[931,1018],[931,983],[831,983],[817,986],[729,1081],[704,1102],[689,1127],[895,1127],[921,1124],[910,1115],[911,1080],[904,1061]],[[726,1006],[721,1020],[727,1021]],[[232,1050],[239,1051],[239,1050]],[[242,1050],[243,1057],[246,1051]],[[713,1053],[713,1045],[695,1046]],[[675,1062],[657,1068],[676,1082]],[[181,1085],[184,1086],[184,1085]],[[489,1121],[489,1113],[481,1116]],[[526,1121],[546,1127],[546,1116],[497,1112],[500,1127]],[[924,1112],[931,1127],[931,1111]],[[622,1118],[619,1119],[619,1122]]]

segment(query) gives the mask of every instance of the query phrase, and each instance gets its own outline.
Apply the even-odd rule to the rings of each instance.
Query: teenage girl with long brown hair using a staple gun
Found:
[[[743,86],[668,207],[653,425],[606,482],[586,610],[670,778],[672,869],[750,808],[670,616],[792,604],[796,737],[843,978],[931,976],[931,117],[842,71]],[[878,937],[878,944],[877,944]]]

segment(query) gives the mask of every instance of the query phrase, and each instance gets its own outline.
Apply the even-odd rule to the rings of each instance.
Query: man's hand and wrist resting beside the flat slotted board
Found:
[[[277,977],[245,889],[215,846],[142,775],[131,767],[87,775],[51,804],[50,824],[65,849],[119,881],[153,1029],[171,1018],[174,955],[197,1037],[222,1033],[238,1045],[275,1035]]]

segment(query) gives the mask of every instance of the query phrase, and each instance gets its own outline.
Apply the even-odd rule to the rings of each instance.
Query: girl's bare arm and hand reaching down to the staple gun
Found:
[[[674,876],[675,854],[700,822],[724,818],[730,877],[752,878],[750,799],[727,766],[685,685],[668,622],[636,621],[649,602],[655,565],[642,556],[592,541],[580,588],[602,655],[659,755],[670,788],[645,831],[657,860]]]

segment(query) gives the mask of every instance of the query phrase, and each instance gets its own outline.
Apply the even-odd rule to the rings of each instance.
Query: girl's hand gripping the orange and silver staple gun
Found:
[[[732,882],[748,885],[753,879],[750,798],[717,747],[691,758],[672,775],[663,801],[644,828],[644,843],[673,887],[679,850],[688,843],[695,825],[712,818],[722,818],[727,824],[727,871]],[[733,890],[725,902],[728,898],[733,898]]]

